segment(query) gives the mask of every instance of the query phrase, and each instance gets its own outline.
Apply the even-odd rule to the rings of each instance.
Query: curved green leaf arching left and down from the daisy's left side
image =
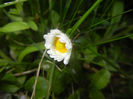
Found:
[[[36,51],[43,50],[43,49],[44,49],[44,43],[43,42],[38,43],[36,45],[33,44],[31,46],[28,46],[20,53],[20,55],[18,56],[18,61],[21,62],[26,55],[33,53],[33,52],[36,52]]]

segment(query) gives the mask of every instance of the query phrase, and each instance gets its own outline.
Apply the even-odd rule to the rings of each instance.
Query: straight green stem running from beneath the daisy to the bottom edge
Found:
[[[54,75],[54,69],[55,69],[55,61],[53,63],[53,66],[51,67],[51,72],[50,72],[50,77],[49,77],[49,86],[48,86],[48,92],[47,92],[46,99],[49,99],[49,96],[50,96],[50,91],[51,91],[52,81],[53,81],[53,75]]]

